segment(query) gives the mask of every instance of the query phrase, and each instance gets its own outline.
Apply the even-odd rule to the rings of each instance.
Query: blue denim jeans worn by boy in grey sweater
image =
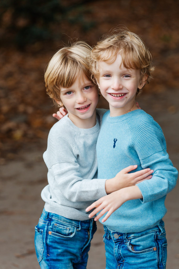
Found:
[[[77,221],[45,209],[35,227],[35,250],[42,269],[85,269],[96,222]]]

